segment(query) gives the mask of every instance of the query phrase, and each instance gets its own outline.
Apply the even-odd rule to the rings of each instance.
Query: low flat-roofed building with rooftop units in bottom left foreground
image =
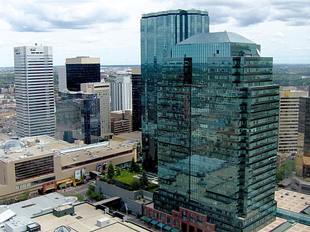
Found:
[[[8,207],[0,207],[0,232],[22,231],[149,231],[144,226],[127,220],[119,212],[109,212],[92,204],[76,202],[76,197],[51,193],[25,200]]]

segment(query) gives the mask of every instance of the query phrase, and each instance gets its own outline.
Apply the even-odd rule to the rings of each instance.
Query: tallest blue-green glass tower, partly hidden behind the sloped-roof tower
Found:
[[[142,15],[142,147],[144,169],[157,163],[157,83],[161,82],[163,57],[173,45],[197,33],[209,32],[208,11],[175,10]]]

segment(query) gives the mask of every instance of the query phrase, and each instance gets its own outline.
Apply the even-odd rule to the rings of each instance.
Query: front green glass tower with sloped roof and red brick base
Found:
[[[171,56],[157,85],[159,191],[144,215],[180,231],[259,231],[276,211],[272,58],[232,32],[194,35]]]

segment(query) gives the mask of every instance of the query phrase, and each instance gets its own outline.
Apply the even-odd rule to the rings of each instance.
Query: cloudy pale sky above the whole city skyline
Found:
[[[54,65],[75,56],[101,64],[140,64],[142,13],[209,11],[210,32],[237,32],[274,63],[310,63],[309,0],[0,0],[0,66],[13,47],[53,47]]]

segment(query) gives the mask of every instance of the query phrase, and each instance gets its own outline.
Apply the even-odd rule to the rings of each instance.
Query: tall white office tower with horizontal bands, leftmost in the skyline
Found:
[[[48,46],[14,48],[18,135],[54,136],[53,56]]]

